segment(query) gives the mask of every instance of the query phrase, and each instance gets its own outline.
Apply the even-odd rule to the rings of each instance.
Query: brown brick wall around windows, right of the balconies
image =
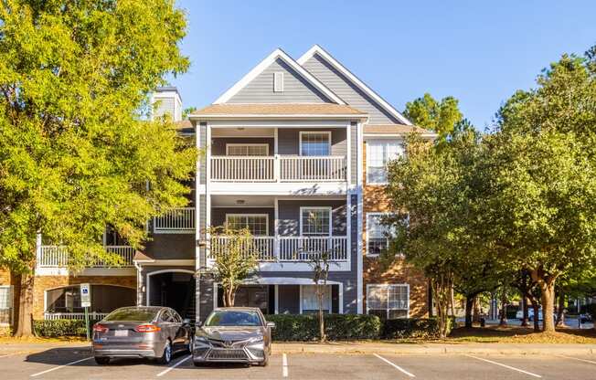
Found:
[[[363,254],[367,244],[367,212],[390,212],[391,206],[385,188],[382,185],[367,185],[367,142],[363,146]],[[423,317],[428,313],[428,281],[420,271],[412,268],[403,259],[398,259],[391,268],[381,269],[378,259],[366,257],[363,262],[363,294],[366,297],[367,284],[410,284],[410,317]]]

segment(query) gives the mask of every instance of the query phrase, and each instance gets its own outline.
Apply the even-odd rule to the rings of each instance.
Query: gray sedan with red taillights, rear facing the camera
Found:
[[[172,355],[193,351],[194,329],[173,309],[160,306],[116,309],[93,325],[93,356],[97,364],[113,357],[156,359],[168,364]]]

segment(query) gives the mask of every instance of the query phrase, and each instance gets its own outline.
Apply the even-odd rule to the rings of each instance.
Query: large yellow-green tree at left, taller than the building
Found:
[[[0,6],[0,265],[21,281],[16,335],[31,333],[37,234],[68,246],[71,269],[117,264],[106,225],[141,248],[150,217],[186,204],[195,149],[169,121],[140,121],[188,66],[185,28],[169,0]]]

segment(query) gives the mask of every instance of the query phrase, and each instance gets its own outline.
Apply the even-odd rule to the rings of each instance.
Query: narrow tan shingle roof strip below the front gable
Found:
[[[234,116],[234,115],[366,115],[348,105],[335,103],[251,103],[251,104],[211,104],[191,116]]]

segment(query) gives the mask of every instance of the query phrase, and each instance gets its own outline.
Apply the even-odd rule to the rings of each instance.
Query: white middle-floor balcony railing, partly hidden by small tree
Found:
[[[210,259],[222,253],[230,237],[211,237]],[[347,237],[252,237],[260,261],[309,261],[322,252],[330,261],[347,261]]]

